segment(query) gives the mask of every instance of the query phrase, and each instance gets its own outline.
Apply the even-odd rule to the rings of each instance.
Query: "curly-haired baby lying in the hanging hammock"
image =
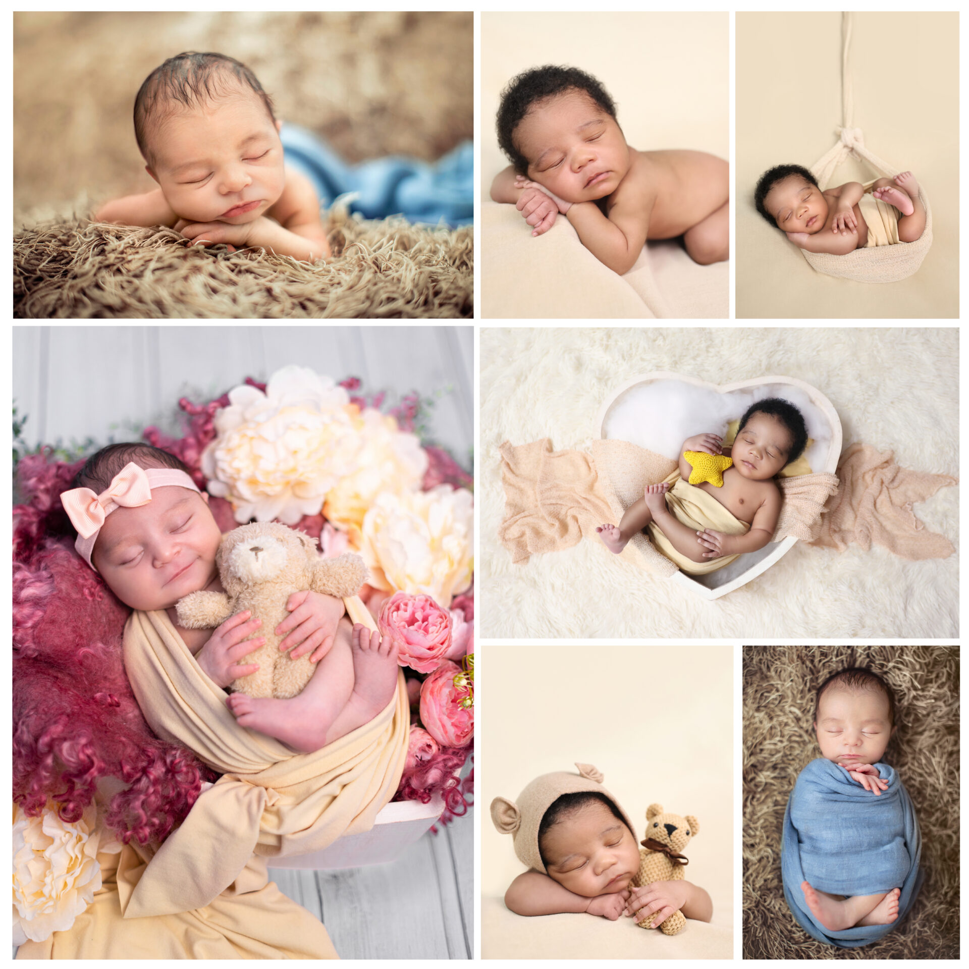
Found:
[[[912,172],[822,191],[807,169],[778,165],[761,175],[754,203],[770,225],[808,252],[844,256],[915,242],[925,231],[925,206]]]

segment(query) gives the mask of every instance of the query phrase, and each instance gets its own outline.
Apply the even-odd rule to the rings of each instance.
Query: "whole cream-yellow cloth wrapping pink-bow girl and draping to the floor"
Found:
[[[403,674],[370,723],[297,754],[235,723],[225,692],[202,672],[166,612],[132,614],[124,661],[151,729],[223,776],[157,851],[124,848],[116,882],[109,877],[70,931],[22,946],[18,956],[334,957],[323,925],[268,883],[266,859],[319,851],[373,827],[407,754]]]

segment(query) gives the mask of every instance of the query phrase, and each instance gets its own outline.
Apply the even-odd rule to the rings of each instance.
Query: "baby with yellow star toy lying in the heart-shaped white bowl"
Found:
[[[781,510],[774,476],[797,460],[807,427],[794,404],[768,397],[740,419],[730,456],[722,438],[698,434],[683,442],[679,467],[659,485],[647,485],[618,525],[596,531],[618,554],[637,532],[692,576],[722,569],[743,552],[773,538]],[[700,480],[700,479],[705,480]]]

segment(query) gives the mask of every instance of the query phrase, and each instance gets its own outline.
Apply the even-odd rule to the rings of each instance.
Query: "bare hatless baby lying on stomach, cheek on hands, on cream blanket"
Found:
[[[707,265],[730,258],[730,166],[703,151],[637,151],[602,83],[577,68],[540,67],[512,80],[498,109],[498,143],[512,164],[491,185],[533,235],[559,214],[582,245],[620,274],[647,238],[682,236]]]

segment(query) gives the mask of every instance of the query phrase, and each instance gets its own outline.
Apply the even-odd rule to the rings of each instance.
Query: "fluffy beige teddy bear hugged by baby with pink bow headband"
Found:
[[[215,557],[225,592],[192,592],[175,605],[178,621],[186,629],[214,629],[231,615],[251,610],[263,625],[253,636],[266,637],[243,662],[258,663],[259,670],[234,681],[232,689],[250,697],[295,697],[316,669],[306,653],[291,659],[280,652],[285,639],[274,630],[289,612],[286,603],[294,592],[310,590],[345,599],[355,596],[366,579],[359,555],[321,558],[316,540],[274,521],[234,528],[222,539]]]

